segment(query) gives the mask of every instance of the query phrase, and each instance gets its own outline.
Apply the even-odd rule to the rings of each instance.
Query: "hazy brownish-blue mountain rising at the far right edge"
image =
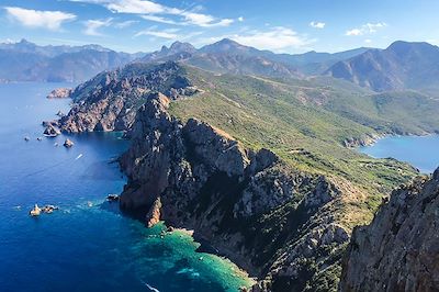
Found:
[[[439,47],[428,43],[395,42],[331,66],[326,75],[375,91],[439,88]]]

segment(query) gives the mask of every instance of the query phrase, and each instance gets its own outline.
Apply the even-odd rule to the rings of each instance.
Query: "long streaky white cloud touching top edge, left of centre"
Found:
[[[209,14],[199,13],[200,7],[192,11],[162,5],[148,0],[70,0],[102,4],[114,13],[143,14],[144,19],[155,22],[176,25],[198,25],[202,27],[227,26],[234,22],[230,19],[217,19]],[[160,15],[173,15],[179,20],[169,20]]]

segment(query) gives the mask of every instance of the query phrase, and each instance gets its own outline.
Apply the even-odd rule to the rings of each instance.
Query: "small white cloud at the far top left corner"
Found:
[[[8,14],[21,24],[30,27],[44,27],[52,31],[60,29],[61,24],[77,16],[61,11],[40,11],[19,7],[5,7]]]

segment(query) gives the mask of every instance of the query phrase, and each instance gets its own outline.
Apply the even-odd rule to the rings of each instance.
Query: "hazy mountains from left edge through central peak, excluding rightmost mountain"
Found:
[[[176,42],[170,47],[162,46],[157,52],[127,54],[99,45],[38,46],[22,40],[19,43],[0,44],[0,80],[80,82],[100,71],[114,69],[134,60],[179,60],[218,74],[304,78],[322,74],[333,64],[365,50],[368,48],[336,54],[274,54],[224,38],[200,49],[189,43]]]

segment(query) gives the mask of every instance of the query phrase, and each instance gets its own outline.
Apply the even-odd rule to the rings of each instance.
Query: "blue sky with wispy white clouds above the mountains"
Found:
[[[0,0],[0,42],[151,52],[229,37],[278,53],[439,44],[437,0]]]

